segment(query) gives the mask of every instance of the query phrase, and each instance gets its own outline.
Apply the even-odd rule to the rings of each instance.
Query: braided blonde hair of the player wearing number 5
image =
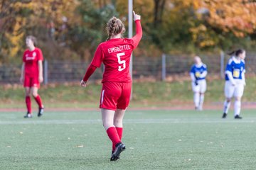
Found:
[[[112,17],[110,20],[107,22],[107,40],[110,40],[111,36],[117,35],[119,33],[124,33],[125,28],[124,28],[124,23],[119,18]]]

